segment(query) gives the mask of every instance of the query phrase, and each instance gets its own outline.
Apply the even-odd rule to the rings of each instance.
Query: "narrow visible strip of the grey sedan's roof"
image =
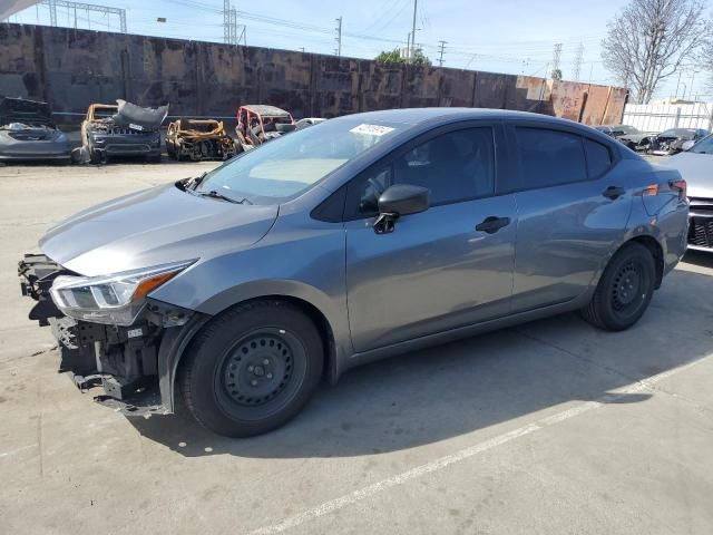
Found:
[[[384,123],[401,123],[416,126],[423,123],[451,123],[453,120],[468,119],[520,119],[536,120],[551,125],[584,126],[568,119],[551,117],[549,115],[533,114],[529,111],[515,111],[509,109],[488,108],[398,108],[380,111],[365,111],[362,114],[344,115],[331,120],[369,120]]]

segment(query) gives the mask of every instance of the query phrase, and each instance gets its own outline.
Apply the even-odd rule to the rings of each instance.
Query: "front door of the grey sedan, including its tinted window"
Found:
[[[358,352],[506,315],[517,213],[496,196],[499,126],[450,127],[375,164],[348,186],[346,292]],[[430,191],[426,212],[377,234],[377,201],[392,184]],[[501,226],[487,232],[486,218]]]

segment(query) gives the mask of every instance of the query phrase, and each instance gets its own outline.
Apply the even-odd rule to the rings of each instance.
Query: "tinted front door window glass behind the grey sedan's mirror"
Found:
[[[492,195],[492,129],[467,128],[442,134],[368,171],[350,184],[350,204],[356,207],[352,215],[375,214],[379,196],[393,184],[428,188],[431,205]]]

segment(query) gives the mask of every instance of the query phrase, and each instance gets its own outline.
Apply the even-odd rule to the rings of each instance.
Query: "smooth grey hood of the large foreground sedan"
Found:
[[[277,206],[198,197],[174,184],[80,212],[40,240],[42,252],[81,275],[104,275],[250,247]]]

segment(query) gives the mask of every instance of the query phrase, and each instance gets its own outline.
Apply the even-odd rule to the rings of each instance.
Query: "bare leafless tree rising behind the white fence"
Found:
[[[607,25],[602,59],[634,100],[648,104],[656,87],[710,37],[701,0],[632,0]]]

